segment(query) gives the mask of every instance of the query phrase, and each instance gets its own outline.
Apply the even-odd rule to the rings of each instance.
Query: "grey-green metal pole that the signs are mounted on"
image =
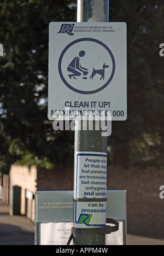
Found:
[[[78,0],[77,21],[108,22],[109,0]],[[75,158],[77,152],[107,153],[107,137],[102,137],[101,128],[99,131],[95,129],[96,122],[97,121],[95,121],[93,124],[93,130],[89,131],[89,121],[83,121],[83,125],[85,124],[87,130],[78,129],[79,126],[83,126],[81,121],[76,121],[75,126],[77,129],[75,129]],[[75,181],[74,178],[74,191],[76,182],[77,181]],[[73,234],[73,244],[106,245],[106,234]]]

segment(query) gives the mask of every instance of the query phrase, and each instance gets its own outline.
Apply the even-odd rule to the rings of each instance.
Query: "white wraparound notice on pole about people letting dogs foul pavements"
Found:
[[[75,165],[75,198],[107,198],[107,154],[77,152]],[[75,228],[106,225],[107,202],[75,202]]]

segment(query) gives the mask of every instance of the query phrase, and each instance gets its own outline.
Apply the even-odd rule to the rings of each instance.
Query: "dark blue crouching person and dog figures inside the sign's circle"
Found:
[[[69,74],[69,78],[72,79],[77,79],[77,77],[80,77],[81,75],[84,75],[83,79],[87,79],[87,74],[89,73],[89,70],[83,66],[81,66],[81,57],[85,56],[85,51],[81,50],[79,52],[79,56],[74,57],[74,59],[71,61],[71,63],[68,65],[67,71],[69,71],[71,74]],[[106,65],[106,63],[103,64],[101,69],[95,69],[94,67],[92,67],[92,74],[90,76],[90,79],[93,80],[93,78],[97,75],[100,76],[100,80],[104,80],[105,79],[105,69],[109,68],[108,65]]]

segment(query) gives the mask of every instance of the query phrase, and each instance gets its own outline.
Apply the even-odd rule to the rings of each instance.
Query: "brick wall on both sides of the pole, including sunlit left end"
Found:
[[[108,170],[108,190],[127,190],[127,231],[131,234],[164,238],[164,199],[159,188],[164,185],[164,170],[154,167],[140,170],[113,168]],[[73,190],[72,168],[44,170],[36,167],[12,166],[10,187],[22,188],[21,214],[34,220],[34,199],[25,199],[25,191]],[[36,182],[37,181],[37,182]],[[28,211],[26,210],[28,208]]]

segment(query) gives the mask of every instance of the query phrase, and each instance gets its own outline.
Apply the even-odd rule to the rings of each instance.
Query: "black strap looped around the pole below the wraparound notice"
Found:
[[[111,234],[119,230],[119,222],[115,219],[107,219],[107,224],[114,224],[114,226],[106,225],[102,228],[87,228],[87,229],[79,229],[79,228],[72,228],[72,234],[69,237],[67,245],[70,245],[73,235],[89,235],[89,234]]]

